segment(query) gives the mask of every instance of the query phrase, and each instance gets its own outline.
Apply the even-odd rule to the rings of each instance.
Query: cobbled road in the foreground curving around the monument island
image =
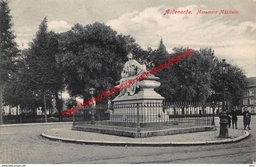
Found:
[[[219,120],[216,120],[218,125]],[[238,118],[238,128],[243,128]],[[256,117],[251,136],[238,143],[208,146],[121,147],[63,143],[41,132],[71,124],[0,127],[0,163],[252,163],[256,161]]]

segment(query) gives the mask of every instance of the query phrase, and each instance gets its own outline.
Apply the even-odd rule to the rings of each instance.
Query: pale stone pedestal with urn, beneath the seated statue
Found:
[[[110,121],[153,123],[167,121],[169,115],[163,112],[163,100],[155,88],[160,86],[158,77],[148,77],[139,82],[141,91],[132,96],[116,97]]]

